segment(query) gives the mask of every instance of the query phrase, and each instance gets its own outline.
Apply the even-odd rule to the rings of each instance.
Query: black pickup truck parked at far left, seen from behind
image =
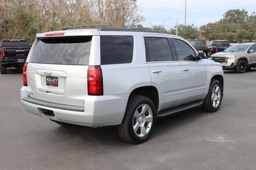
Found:
[[[7,68],[21,69],[26,62],[30,46],[26,40],[3,40],[0,43],[0,70],[7,73]]]

